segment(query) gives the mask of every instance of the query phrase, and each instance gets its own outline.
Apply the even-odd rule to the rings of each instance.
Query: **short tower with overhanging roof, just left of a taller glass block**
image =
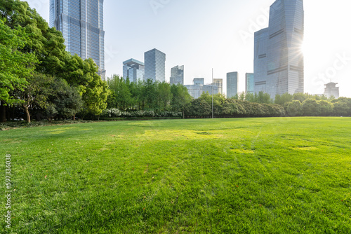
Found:
[[[145,76],[145,66],[143,62],[134,60],[126,60],[123,62],[123,78],[129,78],[131,82],[143,81]]]

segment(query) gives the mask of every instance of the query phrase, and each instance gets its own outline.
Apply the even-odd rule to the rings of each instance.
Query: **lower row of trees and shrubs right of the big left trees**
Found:
[[[101,115],[105,118],[152,116],[150,112],[145,112],[143,116],[140,111],[153,111],[154,116],[168,111],[168,117],[178,116],[179,112],[183,113],[183,118],[212,116],[212,96],[208,92],[193,99],[183,85],[153,82],[150,79],[131,83],[128,78],[117,75],[111,76],[107,84],[111,95],[107,99],[107,110]],[[240,92],[232,98],[213,95],[215,118],[280,116],[351,116],[351,99],[303,93],[277,95],[274,100],[264,92]]]

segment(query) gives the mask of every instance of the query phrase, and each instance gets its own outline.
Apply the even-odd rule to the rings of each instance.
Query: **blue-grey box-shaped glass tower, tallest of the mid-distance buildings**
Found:
[[[145,80],[166,81],[166,54],[157,49],[145,52]]]

